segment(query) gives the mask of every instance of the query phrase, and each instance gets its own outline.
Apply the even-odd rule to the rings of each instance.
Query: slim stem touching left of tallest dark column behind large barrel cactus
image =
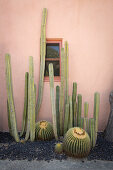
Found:
[[[69,96],[69,125],[68,129],[73,127],[73,107],[72,107],[72,96]]]

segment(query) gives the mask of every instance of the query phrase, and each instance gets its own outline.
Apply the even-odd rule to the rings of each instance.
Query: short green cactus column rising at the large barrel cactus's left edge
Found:
[[[69,123],[69,103],[65,105],[64,135],[68,130],[68,123]]]

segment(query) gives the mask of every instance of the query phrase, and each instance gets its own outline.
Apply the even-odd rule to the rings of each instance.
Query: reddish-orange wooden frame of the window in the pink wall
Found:
[[[60,76],[54,76],[55,82],[61,81],[61,48],[62,48],[62,38],[46,38],[46,43],[59,43],[59,58],[45,58],[45,61],[59,61],[60,62]],[[44,77],[45,82],[49,82],[49,76]]]

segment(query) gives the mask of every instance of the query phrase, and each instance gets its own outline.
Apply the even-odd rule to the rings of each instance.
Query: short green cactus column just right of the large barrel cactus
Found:
[[[95,123],[94,118],[90,118],[89,119],[89,135],[91,139],[91,147],[94,147],[96,144],[94,123]]]

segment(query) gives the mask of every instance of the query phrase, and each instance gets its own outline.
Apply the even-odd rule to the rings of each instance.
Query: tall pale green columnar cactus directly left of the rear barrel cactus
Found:
[[[27,132],[25,140],[34,141],[35,139],[35,91],[34,91],[34,67],[33,58],[29,57],[29,80],[28,80],[28,118]]]

